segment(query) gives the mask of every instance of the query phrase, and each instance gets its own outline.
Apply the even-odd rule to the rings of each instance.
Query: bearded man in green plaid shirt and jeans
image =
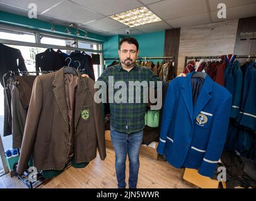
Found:
[[[108,78],[112,76],[113,85],[115,82],[123,81],[128,90],[130,90],[129,81],[161,81],[151,70],[136,64],[139,44],[135,38],[124,38],[120,41],[118,53],[120,63],[107,68],[98,79],[104,81],[107,86]],[[87,75],[82,76],[86,77]],[[139,149],[143,140],[145,112],[146,104],[143,102],[129,103],[127,100],[127,103],[110,103],[110,135],[115,150],[115,171],[119,188],[126,186],[125,161],[127,154],[129,157],[129,188],[137,187]]]

